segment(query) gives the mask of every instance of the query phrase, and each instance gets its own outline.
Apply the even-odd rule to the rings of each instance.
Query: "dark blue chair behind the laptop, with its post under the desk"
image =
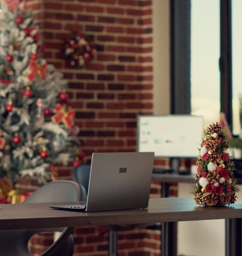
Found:
[[[89,186],[89,178],[90,178],[90,170],[91,165],[80,165],[71,171],[71,179],[73,181],[78,182],[86,189],[86,194],[88,193],[88,186]],[[85,193],[83,193],[85,194]],[[117,256],[118,255],[118,230],[120,228],[127,228],[127,227],[137,227],[137,226],[152,226],[154,224],[133,224],[128,226],[119,226],[119,225],[112,225],[112,226],[105,226],[109,230],[109,256]]]

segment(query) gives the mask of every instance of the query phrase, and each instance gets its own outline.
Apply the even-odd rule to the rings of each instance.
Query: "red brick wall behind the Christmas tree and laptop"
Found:
[[[151,0],[28,0],[40,26],[44,58],[69,81],[69,106],[76,111],[78,139],[90,163],[93,152],[134,152],[139,114],[152,114]],[[83,68],[67,65],[65,37],[73,31],[88,35],[97,53]],[[164,160],[161,160],[165,164]],[[58,167],[59,179],[70,179],[69,167]],[[160,196],[153,182],[150,196]],[[101,234],[105,232],[105,234]],[[103,227],[75,228],[75,256],[107,255]],[[31,251],[38,255],[51,235],[34,236]],[[160,231],[126,228],[118,232],[118,253],[159,255]]]

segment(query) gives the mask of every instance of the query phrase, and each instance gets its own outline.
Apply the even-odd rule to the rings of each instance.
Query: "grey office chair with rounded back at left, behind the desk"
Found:
[[[82,190],[75,181],[53,181],[35,190],[22,203],[75,202],[81,201]],[[18,213],[16,213],[18,214]],[[72,256],[74,239],[71,228],[33,228],[22,230],[0,230],[0,255],[29,256],[27,248],[31,236],[41,232],[62,232],[61,236],[41,256]]]

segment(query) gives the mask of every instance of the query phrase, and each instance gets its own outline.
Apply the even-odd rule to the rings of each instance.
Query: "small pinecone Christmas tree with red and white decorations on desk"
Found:
[[[220,123],[203,131],[203,140],[196,164],[198,174],[192,190],[197,205],[226,205],[234,203],[239,188],[233,179],[234,163],[230,160],[228,129]]]

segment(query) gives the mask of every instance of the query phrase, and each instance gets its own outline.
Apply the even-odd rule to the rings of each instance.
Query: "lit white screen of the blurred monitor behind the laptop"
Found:
[[[161,158],[196,158],[202,131],[202,116],[139,116],[137,152],[151,151]]]

